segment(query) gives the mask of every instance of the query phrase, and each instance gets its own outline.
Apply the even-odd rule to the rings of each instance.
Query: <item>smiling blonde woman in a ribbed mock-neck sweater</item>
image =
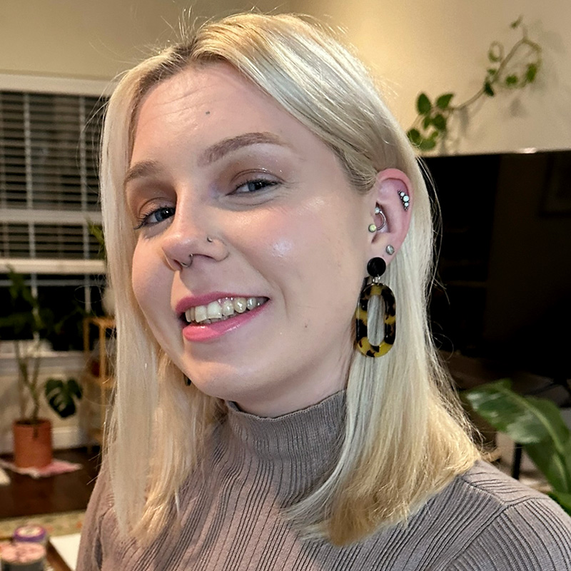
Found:
[[[116,404],[79,570],[571,569],[562,510],[478,460],[423,177],[330,34],[245,14],[144,61],[101,185]]]

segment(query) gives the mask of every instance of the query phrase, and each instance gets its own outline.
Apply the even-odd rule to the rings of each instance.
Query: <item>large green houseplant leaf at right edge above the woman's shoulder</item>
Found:
[[[463,400],[522,445],[550,483],[550,496],[571,515],[571,432],[559,408],[550,400],[516,393],[509,379],[466,390]]]

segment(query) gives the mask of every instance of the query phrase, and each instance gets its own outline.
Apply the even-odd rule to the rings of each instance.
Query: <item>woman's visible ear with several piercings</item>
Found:
[[[400,193],[404,193],[404,196]],[[380,207],[385,224],[370,235],[371,258],[383,258],[387,265],[393,260],[408,233],[413,204],[413,188],[403,171],[386,168],[377,174],[371,189],[370,216],[375,226],[383,226],[383,216],[375,213],[375,208]],[[387,246],[393,246],[394,253],[388,253]]]

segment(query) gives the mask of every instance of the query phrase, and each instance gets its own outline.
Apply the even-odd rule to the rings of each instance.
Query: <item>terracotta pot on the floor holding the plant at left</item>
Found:
[[[14,463],[18,468],[44,468],[51,463],[51,422],[40,418],[32,424],[29,420],[14,420]]]

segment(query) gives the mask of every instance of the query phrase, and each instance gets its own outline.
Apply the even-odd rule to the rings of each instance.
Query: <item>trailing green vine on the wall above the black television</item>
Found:
[[[527,36],[522,16],[510,24],[519,29],[522,37],[505,53],[499,41],[492,41],[487,50],[490,67],[486,70],[480,89],[463,103],[453,104],[455,94],[444,93],[434,101],[421,93],[416,100],[418,116],[408,130],[408,139],[420,151],[431,151],[448,135],[450,119],[482,97],[494,97],[500,89],[522,89],[532,84],[541,67],[541,46]]]

